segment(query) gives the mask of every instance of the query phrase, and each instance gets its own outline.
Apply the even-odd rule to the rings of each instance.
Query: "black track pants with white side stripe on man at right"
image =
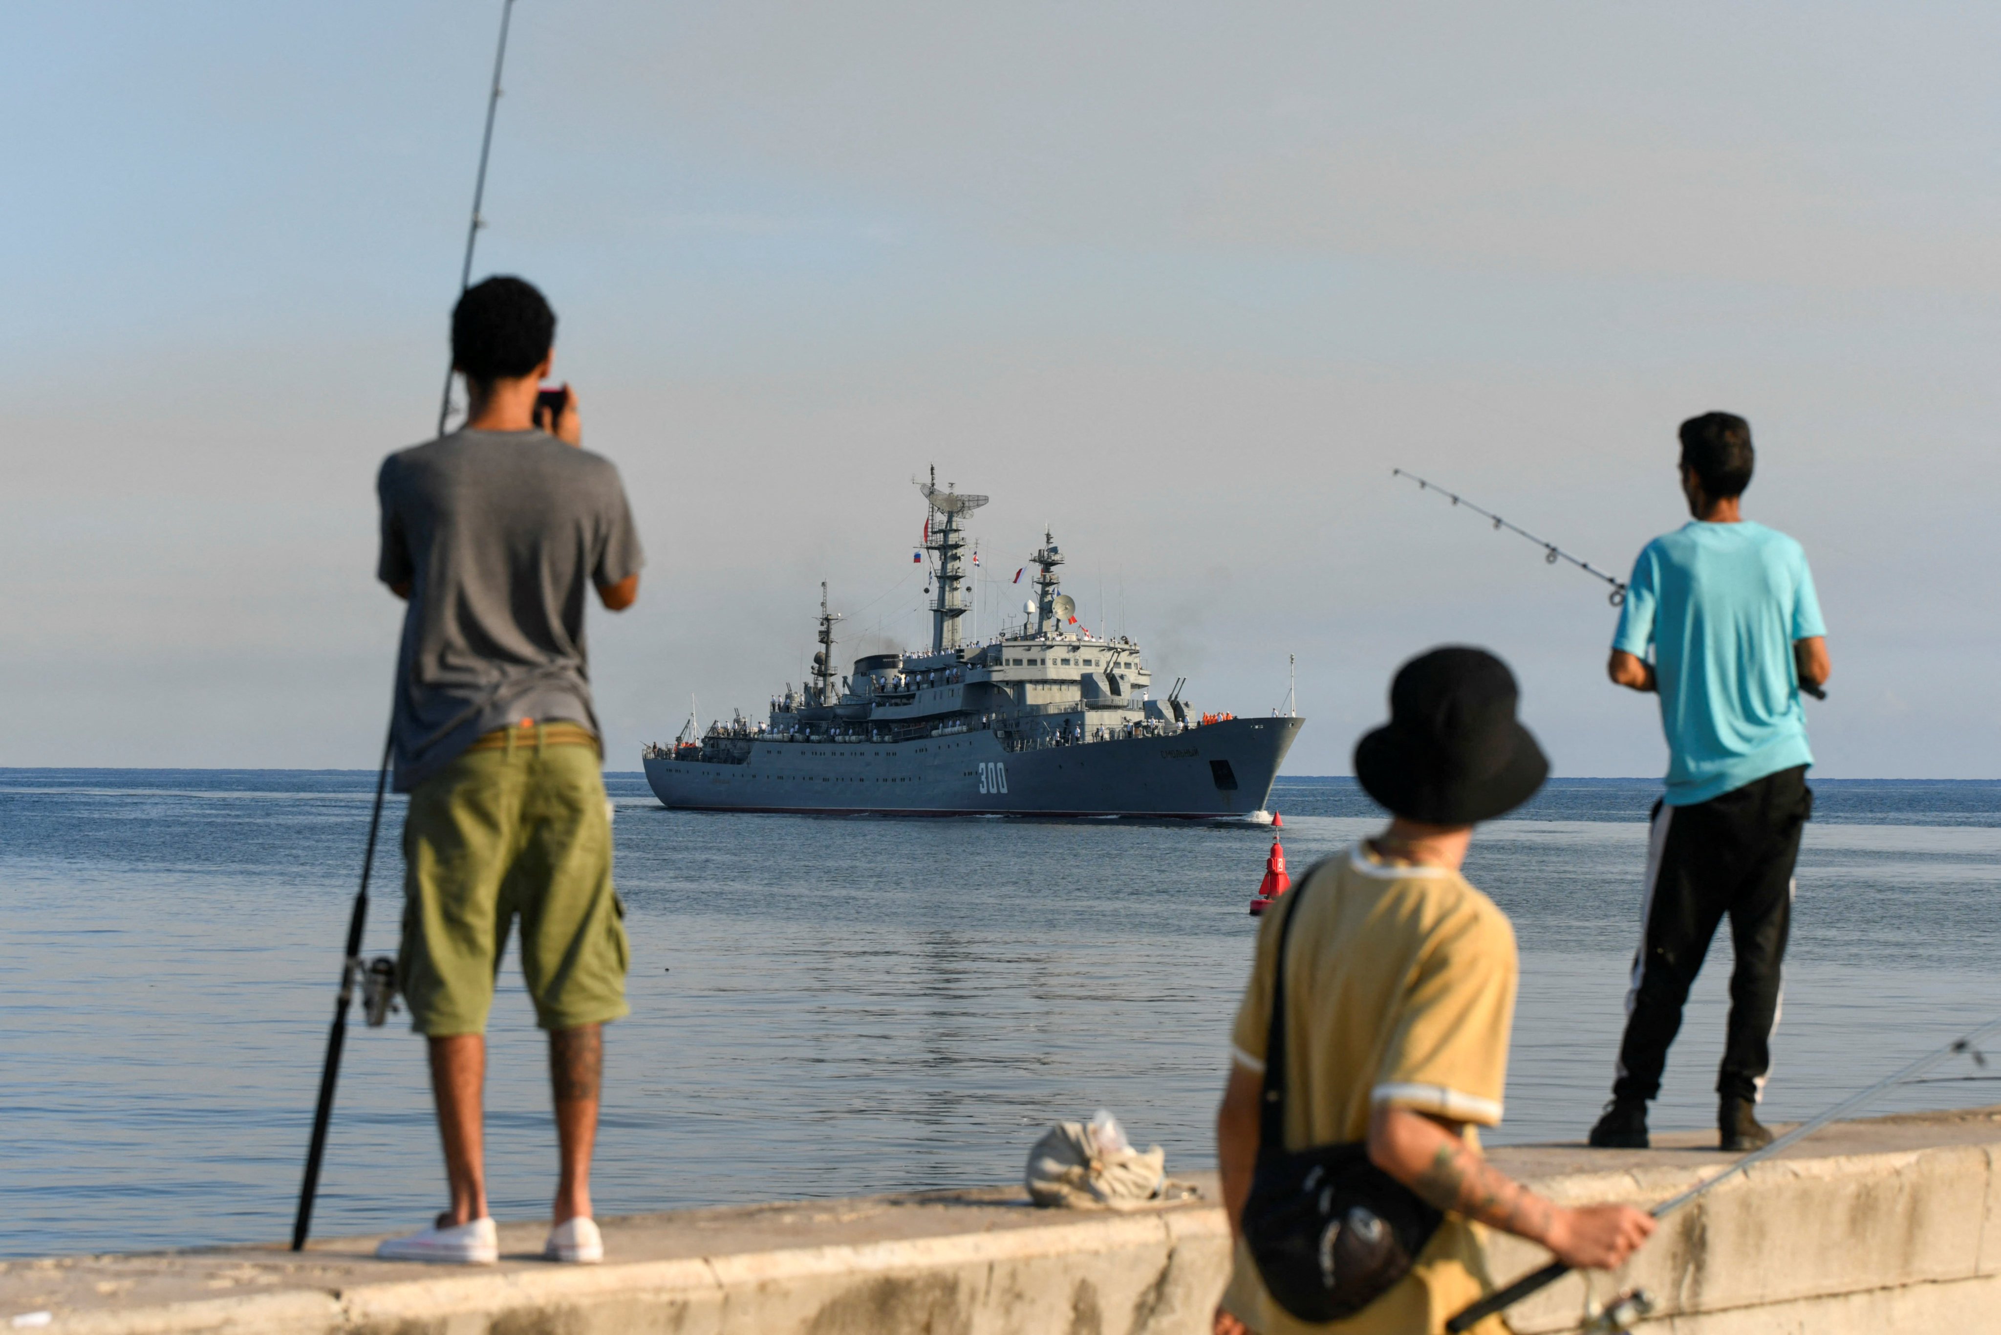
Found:
[[[1813,789],[1805,765],[1707,803],[1653,805],[1643,935],[1613,1097],[1639,1101],[1661,1093],[1681,1005],[1723,915],[1731,919],[1737,971],[1717,1093],[1737,1099],[1763,1093],[1771,1031],[1779,1025],[1779,965],[1793,919],[1793,863],[1809,815]]]

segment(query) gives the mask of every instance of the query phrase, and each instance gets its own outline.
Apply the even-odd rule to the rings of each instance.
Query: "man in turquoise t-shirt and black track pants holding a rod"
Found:
[[[1779,1023],[1793,863],[1813,813],[1799,693],[1821,695],[1829,664],[1807,552],[1743,518],[1753,462],[1741,416],[1705,412],[1681,424],[1681,490],[1695,522],[1639,554],[1613,636],[1611,679],[1661,695],[1669,761],[1647,843],[1619,1077],[1591,1129],[1601,1147],[1647,1145],[1647,1103],[1661,1093],[1681,1007],[1723,915],[1737,969],[1717,1123],[1723,1149],[1771,1141],[1755,1105]]]

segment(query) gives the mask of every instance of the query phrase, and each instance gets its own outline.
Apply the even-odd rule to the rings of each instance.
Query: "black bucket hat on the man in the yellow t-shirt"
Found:
[[[1397,669],[1389,723],[1355,745],[1355,779],[1407,821],[1473,825],[1521,807],[1549,757],[1515,719],[1515,675],[1485,648],[1447,644]]]

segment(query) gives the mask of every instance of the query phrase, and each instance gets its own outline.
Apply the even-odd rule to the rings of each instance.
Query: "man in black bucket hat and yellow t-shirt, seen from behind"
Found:
[[[1443,1331],[1493,1289],[1479,1225],[1585,1269],[1623,1263],[1653,1231],[1627,1205],[1553,1205],[1479,1153],[1475,1127],[1499,1125],[1507,1085],[1515,931],[1459,867],[1473,827],[1519,807],[1549,775],[1515,701],[1515,675],[1483,648],[1435,648],[1403,664],[1391,721],[1355,747],[1355,777],[1391,811],[1389,829],[1313,867],[1265,915],[1217,1115],[1223,1205],[1237,1235],[1219,1335]],[[1281,941],[1285,1043],[1275,1055]],[[1271,1057],[1285,1073],[1283,1145],[1261,1145]],[[1443,1221],[1417,1239],[1409,1273],[1325,1325],[1273,1297],[1287,1285],[1245,1243],[1245,1201],[1261,1151],[1335,1145],[1367,1147],[1369,1163],[1395,1179],[1391,1191]],[[1505,1327],[1495,1317],[1477,1329]]]

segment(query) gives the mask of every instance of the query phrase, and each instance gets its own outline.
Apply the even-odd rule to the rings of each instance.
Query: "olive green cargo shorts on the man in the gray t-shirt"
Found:
[[[512,729],[510,729],[512,731]],[[628,1015],[630,947],[612,891],[596,747],[474,749],[410,793],[396,979],[422,1035],[484,1033],[520,917],[520,969],[542,1029]]]

